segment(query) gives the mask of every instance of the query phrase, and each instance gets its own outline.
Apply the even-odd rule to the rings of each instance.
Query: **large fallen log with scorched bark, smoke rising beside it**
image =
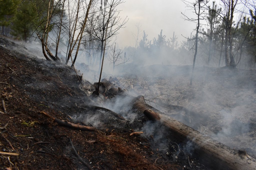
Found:
[[[256,160],[245,151],[231,149],[211,139],[197,130],[167,116],[148,105],[143,96],[136,97],[133,108],[144,113],[149,119],[158,121],[170,129],[172,138],[177,141],[190,141],[195,146],[193,155],[200,158],[205,165],[214,169],[256,169]]]

